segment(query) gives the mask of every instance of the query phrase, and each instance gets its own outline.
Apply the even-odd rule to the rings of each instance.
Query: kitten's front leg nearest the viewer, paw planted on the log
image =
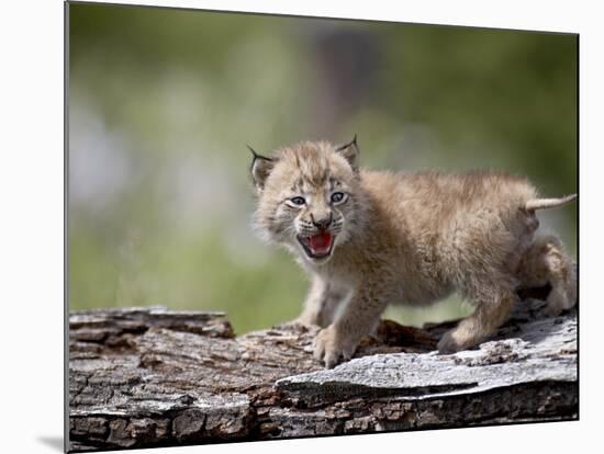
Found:
[[[328,368],[342,359],[353,357],[360,340],[373,332],[385,306],[384,295],[380,292],[366,287],[355,291],[339,317],[316,334],[314,357]]]

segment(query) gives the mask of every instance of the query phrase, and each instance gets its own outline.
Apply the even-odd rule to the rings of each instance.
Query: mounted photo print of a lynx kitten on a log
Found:
[[[578,419],[578,35],[66,14],[69,451]]]

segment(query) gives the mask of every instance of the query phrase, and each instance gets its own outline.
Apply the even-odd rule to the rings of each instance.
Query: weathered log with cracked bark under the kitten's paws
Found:
[[[522,302],[479,349],[392,321],[326,371],[316,328],[234,337],[224,314],[133,308],[70,316],[72,451],[569,420],[578,417],[577,314]]]

